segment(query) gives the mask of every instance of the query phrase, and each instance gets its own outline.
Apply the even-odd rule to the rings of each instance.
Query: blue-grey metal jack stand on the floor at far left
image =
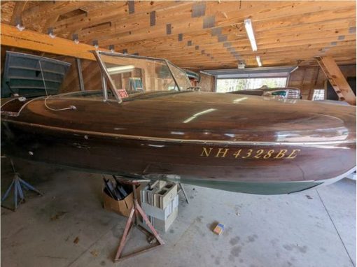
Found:
[[[43,194],[41,192],[39,192],[35,187],[30,185],[28,182],[25,182],[24,180],[22,180],[20,178],[20,175],[15,170],[15,165],[13,164],[13,160],[10,159],[10,162],[11,162],[11,167],[13,168],[13,173],[14,173],[13,182],[11,182],[10,186],[8,187],[5,194],[1,198],[1,206],[4,208],[7,208],[7,207],[3,206],[2,203],[3,203],[3,201],[5,201],[5,199],[7,199],[11,188],[14,187],[14,206],[15,206],[15,208],[13,209],[13,211],[15,211],[18,209],[18,205],[20,205],[22,202],[25,201],[25,196],[24,196],[24,193],[22,192],[21,187],[23,187],[27,191],[31,190],[33,192],[36,192],[37,194],[39,194],[41,196],[43,196]],[[18,196],[20,197],[19,202],[18,202]]]

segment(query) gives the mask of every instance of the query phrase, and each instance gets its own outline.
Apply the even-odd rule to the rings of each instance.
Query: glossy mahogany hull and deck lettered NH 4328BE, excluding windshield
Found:
[[[194,101],[197,96],[206,101]],[[356,115],[350,107],[339,106],[342,111],[331,110],[329,113],[325,106],[321,106],[323,104],[315,104],[316,108],[306,101],[300,106],[285,102],[283,108],[290,108],[290,112],[283,111],[281,117],[274,118],[263,116],[262,107],[255,106],[262,120],[266,121],[260,122],[252,115],[249,123],[239,121],[247,117],[247,106],[235,105],[237,111],[233,114],[232,106],[228,105],[237,96],[176,94],[176,99],[181,100],[170,102],[173,97],[127,102],[124,108],[115,103],[119,106],[111,106],[112,112],[117,112],[115,119],[108,110],[100,111],[98,105],[102,103],[96,101],[90,105],[80,99],[65,97],[48,101],[52,106],[63,106],[65,101],[75,105],[77,110],[92,114],[92,117],[81,120],[76,117],[76,110],[53,112],[43,107],[43,99],[34,100],[18,117],[3,115],[2,149],[12,157],[85,171],[116,175],[135,173],[151,179],[251,194],[299,192],[342,178],[356,166],[356,130],[353,129],[356,124],[353,116],[356,120]],[[215,103],[214,97],[221,99],[221,103]],[[211,103],[207,99],[211,99]],[[246,99],[250,99],[251,104],[261,101],[255,96]],[[266,103],[273,103],[273,110],[284,105],[274,100]],[[146,106],[145,113],[148,114],[143,113],[139,118],[135,116],[139,113],[133,116],[142,105]],[[304,105],[311,109],[309,119],[301,111],[295,114],[296,107],[303,108]],[[153,120],[158,117],[157,113],[169,112],[179,106],[192,106],[192,110],[178,110],[162,116],[161,121]],[[215,117],[214,112],[211,115],[210,112],[197,112],[210,108],[215,111],[225,108],[230,115],[224,117],[222,113]],[[98,114],[91,113],[93,110]],[[325,115],[311,115],[317,114],[318,110]],[[217,120],[220,116],[221,122]],[[237,124],[234,125],[233,119]],[[309,127],[302,126],[307,122]],[[102,128],[98,127],[100,123]],[[289,127],[293,134],[286,131]],[[202,138],[205,135],[208,137]]]

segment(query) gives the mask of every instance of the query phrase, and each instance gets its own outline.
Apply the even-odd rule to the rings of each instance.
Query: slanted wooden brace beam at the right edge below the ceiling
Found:
[[[316,59],[333,89],[335,89],[337,96],[339,96],[339,100],[356,106],[356,95],[353,94],[349,83],[344,78],[335,60],[332,57],[316,57]]]

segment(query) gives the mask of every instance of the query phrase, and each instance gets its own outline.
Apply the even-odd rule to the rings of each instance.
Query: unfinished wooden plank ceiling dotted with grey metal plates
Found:
[[[244,29],[251,18],[258,51]],[[356,64],[356,1],[1,1],[1,22],[183,68]]]

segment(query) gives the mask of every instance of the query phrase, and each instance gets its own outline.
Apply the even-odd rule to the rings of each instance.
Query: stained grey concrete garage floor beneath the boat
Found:
[[[2,159],[1,192],[10,168]],[[356,182],[284,196],[254,196],[186,185],[166,245],[118,264],[125,218],[102,209],[101,175],[21,164],[44,196],[17,212],[1,208],[2,266],[355,266]],[[10,205],[10,203],[8,203]],[[221,236],[211,232],[225,224]],[[75,243],[77,240],[78,243]],[[146,245],[135,230],[127,250]]]

